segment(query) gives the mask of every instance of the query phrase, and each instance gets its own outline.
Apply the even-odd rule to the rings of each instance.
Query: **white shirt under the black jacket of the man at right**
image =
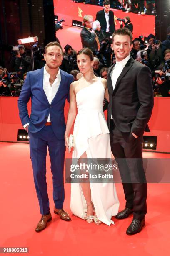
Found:
[[[125,67],[126,63],[128,62],[128,60],[130,59],[130,55],[128,55],[125,59],[123,59],[122,61],[117,61],[115,66],[113,67],[111,73],[110,73],[110,77],[112,79],[112,87],[113,90],[115,89],[116,86],[116,82],[117,82],[117,78],[120,76],[120,74],[122,73],[123,68]],[[112,115],[111,115],[111,119],[113,119]]]

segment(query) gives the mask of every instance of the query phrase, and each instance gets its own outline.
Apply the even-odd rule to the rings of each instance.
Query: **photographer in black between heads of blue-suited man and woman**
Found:
[[[64,56],[62,59],[62,64],[60,69],[63,71],[70,73],[71,70],[78,69],[77,67],[77,59],[76,59],[76,51],[72,49],[72,46],[67,44],[65,47]]]

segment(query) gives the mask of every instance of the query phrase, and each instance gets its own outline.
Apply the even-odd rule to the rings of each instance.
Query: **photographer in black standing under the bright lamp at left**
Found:
[[[15,72],[20,72],[21,77],[23,74],[28,72],[30,69],[31,58],[25,52],[25,48],[22,44],[18,45],[19,51],[16,54],[15,52],[12,55],[10,61],[10,68]]]

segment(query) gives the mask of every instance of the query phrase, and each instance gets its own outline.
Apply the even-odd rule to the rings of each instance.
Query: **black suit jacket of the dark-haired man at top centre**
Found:
[[[101,29],[105,33],[107,23],[106,23],[104,9],[96,13],[96,20],[100,22]],[[110,25],[109,32],[113,33],[115,31],[115,19],[114,19],[114,13],[111,10],[109,11],[109,25]]]

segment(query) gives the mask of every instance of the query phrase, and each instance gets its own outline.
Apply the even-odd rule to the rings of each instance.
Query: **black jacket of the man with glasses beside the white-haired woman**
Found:
[[[87,30],[87,28],[82,28],[82,31],[80,33],[81,36],[81,42],[82,42],[82,48],[88,47],[92,51],[98,51],[97,42],[95,40],[95,33],[91,33]]]

